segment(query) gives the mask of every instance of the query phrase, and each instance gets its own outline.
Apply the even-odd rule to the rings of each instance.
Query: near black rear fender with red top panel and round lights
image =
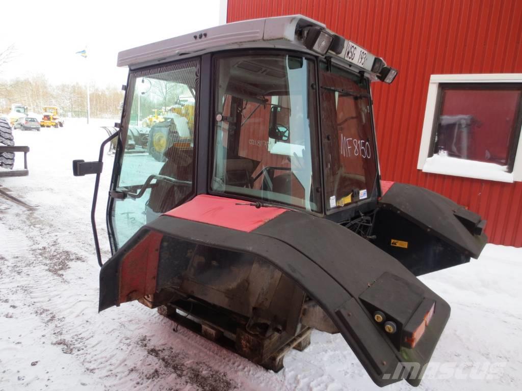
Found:
[[[212,196],[198,196],[141,228],[103,265],[100,311],[150,294],[153,282],[155,291],[169,285],[155,272],[176,267],[183,256],[160,257],[164,238],[249,254],[277,268],[321,306],[379,386],[406,377],[404,363],[419,368],[428,363],[449,317],[442,298],[345,227],[305,213],[256,209]],[[432,306],[435,312],[425,326],[425,308]],[[396,322],[396,334],[387,334],[374,321],[377,309]],[[404,346],[405,336],[421,324],[425,331],[418,343]],[[420,376],[407,381],[418,385]]]

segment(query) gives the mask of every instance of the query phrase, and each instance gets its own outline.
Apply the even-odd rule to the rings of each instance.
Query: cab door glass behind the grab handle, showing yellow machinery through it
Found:
[[[193,193],[199,59],[131,75],[111,223],[115,249]]]

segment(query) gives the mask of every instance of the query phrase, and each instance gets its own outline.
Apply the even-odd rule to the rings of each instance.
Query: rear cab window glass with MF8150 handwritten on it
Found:
[[[370,95],[359,77],[321,63],[321,122],[328,210],[371,197],[377,174]]]

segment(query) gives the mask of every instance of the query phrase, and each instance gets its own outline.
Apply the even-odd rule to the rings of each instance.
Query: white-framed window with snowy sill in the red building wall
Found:
[[[522,75],[432,75],[418,168],[520,181],[521,126]]]

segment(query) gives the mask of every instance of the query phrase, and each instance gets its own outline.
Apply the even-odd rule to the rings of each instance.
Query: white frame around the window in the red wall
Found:
[[[503,171],[499,165],[493,163],[459,159],[458,162],[456,161],[458,164],[448,166],[447,164],[437,165],[436,161],[428,158],[431,138],[435,130],[433,129],[433,119],[436,115],[435,107],[438,85],[440,83],[522,83],[522,74],[431,75],[417,168],[425,173],[454,175],[500,182],[522,181],[522,134],[518,140],[512,173]]]

